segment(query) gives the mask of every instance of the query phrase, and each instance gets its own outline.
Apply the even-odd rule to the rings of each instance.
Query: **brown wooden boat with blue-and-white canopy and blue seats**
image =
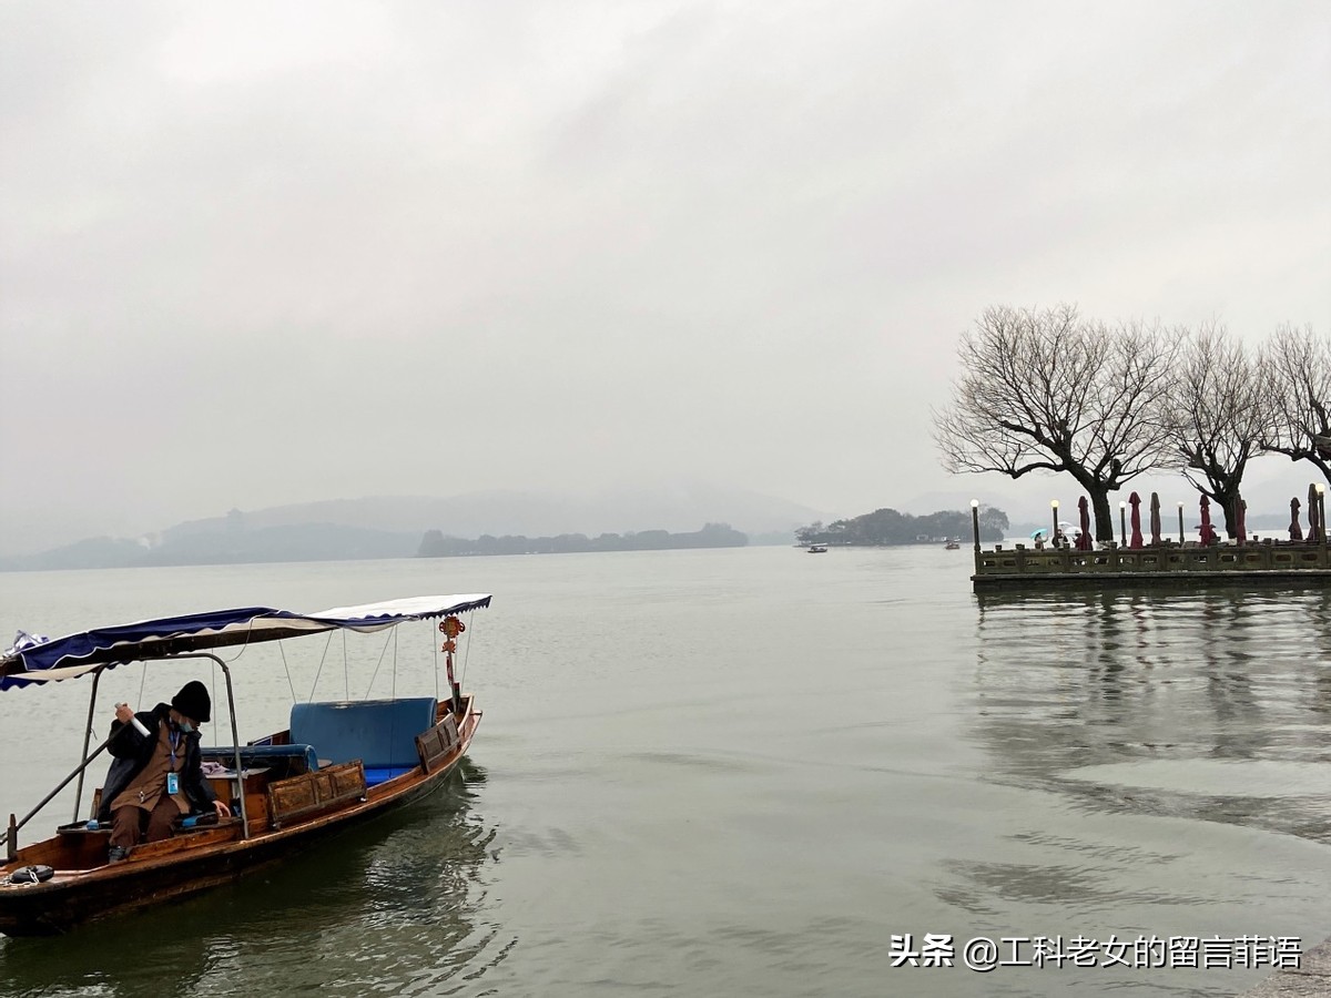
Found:
[[[471,745],[480,711],[454,681],[459,615],[490,605],[486,593],[419,596],[319,613],[248,608],[148,620],[61,639],[37,639],[0,657],[0,691],[92,676],[89,731],[104,671],[134,661],[212,660],[226,680],[232,744],[205,748],[205,777],[232,817],[186,820],[170,838],[136,846],[108,862],[110,830],[76,820],[52,838],[19,848],[23,825],[106,748],[84,761],[21,821],[9,816],[0,866],[0,933],[45,935],[110,914],[156,905],[224,884],[305,850],[311,841],[438,789]],[[232,675],[212,649],[335,629],[382,631],[439,620],[450,693],[393,700],[309,701],[291,707],[290,727],[242,745]],[[23,696],[35,696],[32,692]],[[109,741],[109,739],[108,739]],[[212,762],[212,765],[209,764]],[[75,814],[79,801],[75,804]],[[97,812],[96,794],[93,816]],[[212,820],[212,824],[202,824]]]

